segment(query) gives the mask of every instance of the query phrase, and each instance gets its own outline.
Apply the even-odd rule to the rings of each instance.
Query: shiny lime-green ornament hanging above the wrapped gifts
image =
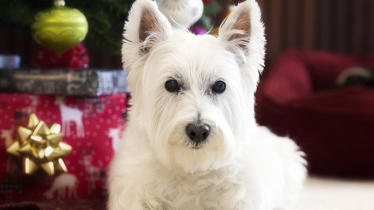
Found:
[[[62,55],[85,39],[88,22],[79,10],[65,7],[64,0],[54,5],[35,15],[31,35],[36,43]]]

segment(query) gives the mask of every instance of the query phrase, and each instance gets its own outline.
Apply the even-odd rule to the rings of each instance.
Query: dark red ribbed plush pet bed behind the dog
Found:
[[[374,177],[374,89],[334,89],[353,66],[373,68],[374,55],[291,50],[259,86],[258,123],[294,139],[311,173]]]

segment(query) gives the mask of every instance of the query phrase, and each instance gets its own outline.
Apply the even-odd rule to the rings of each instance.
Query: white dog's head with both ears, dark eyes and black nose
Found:
[[[223,166],[255,127],[254,93],[264,63],[255,0],[240,3],[218,37],[173,30],[151,0],[132,6],[122,61],[132,92],[130,123],[162,163],[192,172]]]

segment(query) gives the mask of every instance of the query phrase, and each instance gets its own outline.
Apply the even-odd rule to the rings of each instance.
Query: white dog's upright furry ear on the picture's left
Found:
[[[137,0],[132,4],[123,33],[122,62],[128,63],[134,56],[143,56],[152,47],[168,39],[172,31],[168,19],[160,12],[155,1]],[[126,66],[128,66],[126,64]]]

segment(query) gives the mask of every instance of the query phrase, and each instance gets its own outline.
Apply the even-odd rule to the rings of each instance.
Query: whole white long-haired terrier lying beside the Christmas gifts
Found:
[[[173,30],[137,0],[123,34],[132,108],[111,164],[110,210],[290,209],[306,176],[289,138],[258,126],[264,65],[255,0],[240,3],[218,37]]]

